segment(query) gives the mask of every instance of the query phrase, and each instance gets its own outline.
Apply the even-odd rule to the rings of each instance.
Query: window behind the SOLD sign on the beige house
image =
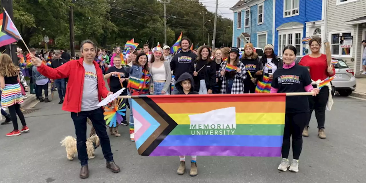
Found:
[[[330,51],[332,52],[332,55],[337,56],[345,56],[349,55],[351,56],[351,47],[343,47],[341,43],[341,38],[343,36],[351,36],[351,33],[336,33],[331,34],[331,42],[330,42]]]

